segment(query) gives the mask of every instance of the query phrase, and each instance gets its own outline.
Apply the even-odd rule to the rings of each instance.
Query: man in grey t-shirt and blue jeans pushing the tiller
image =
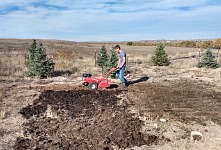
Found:
[[[123,87],[126,88],[127,80],[124,78],[124,70],[126,68],[126,53],[123,50],[121,50],[120,45],[116,45],[114,49],[118,54],[118,70],[116,73],[116,77],[121,80]]]

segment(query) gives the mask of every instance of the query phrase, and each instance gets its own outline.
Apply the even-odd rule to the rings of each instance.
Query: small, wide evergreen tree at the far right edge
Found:
[[[210,49],[207,49],[206,52],[203,54],[203,58],[197,64],[198,68],[206,67],[206,68],[219,68],[219,64],[213,56],[213,53]]]

